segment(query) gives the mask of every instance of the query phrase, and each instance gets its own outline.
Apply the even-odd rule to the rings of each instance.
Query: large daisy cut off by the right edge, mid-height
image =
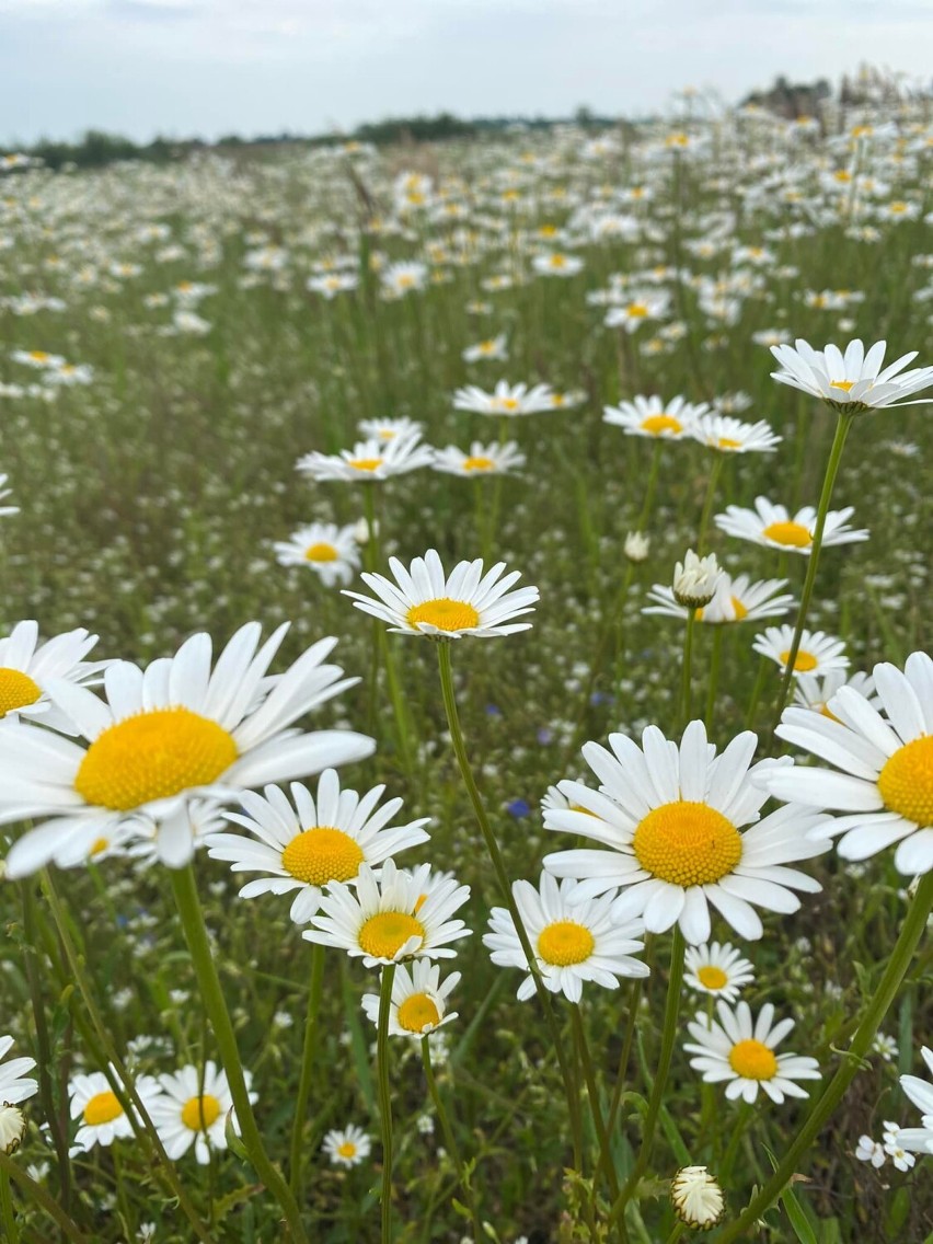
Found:
[[[843,812],[827,826],[841,833],[845,860],[866,860],[892,842],[894,867],[907,876],[933,868],[933,659],[887,662],[872,672],[878,705],[851,687],[830,700],[832,717],[787,708],[778,734],[835,769],[795,765],[769,774],[768,790],[810,807]],[[883,715],[882,715],[883,713]]]

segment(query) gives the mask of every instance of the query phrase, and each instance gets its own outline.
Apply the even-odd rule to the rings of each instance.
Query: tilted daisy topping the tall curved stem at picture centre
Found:
[[[398,557],[389,557],[396,582],[383,575],[363,573],[362,580],[378,600],[345,591],[358,610],[388,622],[397,634],[424,634],[432,639],[460,639],[475,636],[488,639],[529,631],[530,622],[515,622],[532,613],[536,587],[510,591],[521,578],[518,570],[503,577],[505,562],[496,562],[484,573],[483,559],[462,561],[444,573],[435,549],[415,557],[406,569]]]

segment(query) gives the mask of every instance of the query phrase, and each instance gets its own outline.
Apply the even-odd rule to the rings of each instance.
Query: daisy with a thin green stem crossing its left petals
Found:
[[[547,873],[541,875],[540,889],[530,881],[516,881],[511,887],[541,980],[552,994],[562,993],[572,1003],[580,1001],[583,982],[618,989],[620,977],[648,975],[648,965],[632,958],[644,949],[642,922],[613,921],[613,894],[573,902],[576,888],[566,881],[559,886]],[[493,963],[527,972],[511,913],[494,907],[489,927],[493,932],[484,935],[483,944],[491,950]],[[518,996],[526,1001],[534,993],[535,979],[529,973]]]

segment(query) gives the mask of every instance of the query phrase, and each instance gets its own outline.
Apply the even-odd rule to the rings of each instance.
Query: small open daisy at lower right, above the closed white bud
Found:
[[[799,1054],[775,1054],[775,1047],[794,1028],[792,1019],[773,1024],[774,1006],[770,1003],[753,1021],[748,1003],[739,1003],[735,1010],[717,1003],[719,1023],[699,1011],[687,1025],[693,1037],[684,1049],[697,1055],[690,1066],[703,1072],[707,1084],[726,1081],[725,1096],[729,1101],[741,1097],[749,1103],[758,1100],[759,1090],[779,1106],[785,1097],[809,1097],[799,1080],[819,1080],[820,1064],[816,1059]]]

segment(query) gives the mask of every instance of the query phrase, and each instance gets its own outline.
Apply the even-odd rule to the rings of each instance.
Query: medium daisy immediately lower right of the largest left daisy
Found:
[[[408,825],[391,825],[402,809],[401,799],[379,807],[384,786],[374,786],[362,797],[341,790],[336,769],[326,769],[317,782],[317,800],[301,782],[291,784],[291,802],[277,786],[264,795],[244,791],[243,812],[226,812],[226,820],[249,830],[241,833],[211,833],[207,837],[211,860],[225,860],[233,872],[259,872],[240,898],[258,894],[294,894],[291,918],[306,924],[321,904],[325,886],[335,881],[352,883],[361,865],[378,865],[398,851],[428,841],[424,816]],[[294,805],[294,806],[292,806]]]

